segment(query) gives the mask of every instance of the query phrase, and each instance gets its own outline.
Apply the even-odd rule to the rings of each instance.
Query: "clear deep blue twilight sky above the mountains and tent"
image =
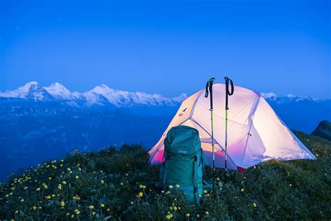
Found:
[[[331,98],[330,1],[0,1],[0,91],[191,94],[223,76]]]

